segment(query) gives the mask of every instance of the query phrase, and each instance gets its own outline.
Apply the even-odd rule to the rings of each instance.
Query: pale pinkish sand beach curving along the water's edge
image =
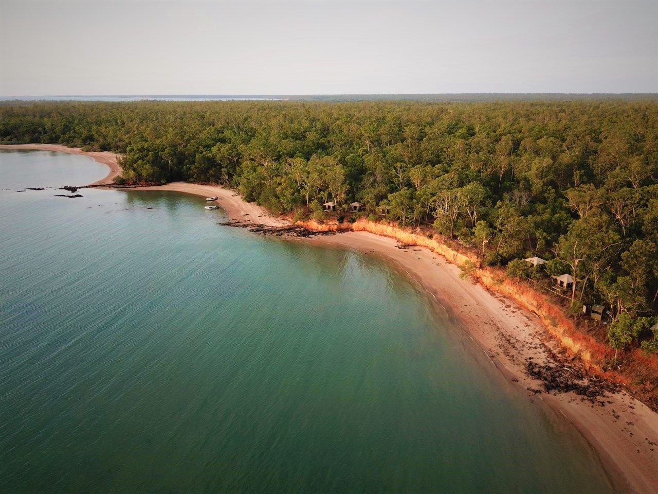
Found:
[[[51,144],[5,145],[0,146],[1,149],[88,155],[110,168],[107,177],[92,186],[109,185],[112,178],[120,173],[118,156],[108,151],[98,153]],[[139,190],[218,196],[218,204],[224,207],[230,219],[268,226],[290,224],[256,204],[243,201],[233,190],[218,186],[172,182],[163,186],[140,187]],[[532,390],[538,389],[540,381],[527,375],[527,359],[531,357],[534,362],[546,362],[550,361],[551,352],[561,352],[559,345],[534,314],[492,294],[482,285],[461,279],[459,268],[454,263],[427,248],[400,249],[397,248],[397,240],[367,231],[350,231],[307,241],[353,249],[390,261],[401,274],[420,284],[519,393],[528,395],[531,400],[540,398],[576,426],[601,458],[617,489],[637,493],[655,492],[658,485],[658,414],[627,393],[615,393],[603,398],[607,401],[605,406],[582,400],[573,392],[534,393]]]

